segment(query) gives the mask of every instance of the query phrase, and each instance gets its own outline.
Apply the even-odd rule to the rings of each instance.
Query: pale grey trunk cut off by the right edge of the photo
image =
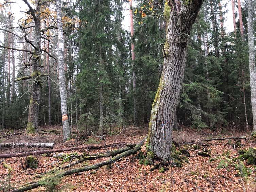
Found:
[[[249,71],[250,71],[250,86],[251,100],[253,113],[253,131],[256,132],[256,68],[255,68],[255,45],[254,45],[254,1],[248,0],[248,53],[249,53]]]

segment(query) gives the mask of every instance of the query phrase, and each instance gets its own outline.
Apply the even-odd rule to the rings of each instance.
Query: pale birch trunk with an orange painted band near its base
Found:
[[[63,127],[63,141],[70,139],[70,129],[68,123],[66,78],[64,72],[64,39],[61,16],[61,0],[56,0],[57,26],[58,26],[58,65],[59,65],[59,93],[61,95],[61,114]]]

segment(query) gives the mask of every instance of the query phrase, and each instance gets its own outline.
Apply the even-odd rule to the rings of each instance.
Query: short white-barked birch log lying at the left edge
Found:
[[[38,147],[38,148],[53,148],[54,143],[0,143],[0,148],[6,147]]]

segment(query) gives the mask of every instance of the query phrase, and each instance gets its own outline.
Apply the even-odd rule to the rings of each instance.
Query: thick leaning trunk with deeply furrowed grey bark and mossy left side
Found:
[[[192,24],[203,0],[168,1],[164,8],[166,42],[160,83],[152,105],[148,145],[153,153],[170,160],[174,116],[180,97]]]

